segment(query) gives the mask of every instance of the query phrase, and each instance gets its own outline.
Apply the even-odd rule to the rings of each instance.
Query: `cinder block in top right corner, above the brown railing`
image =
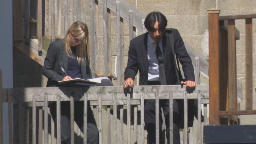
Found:
[[[220,15],[253,14],[256,12],[255,0],[219,0]]]

